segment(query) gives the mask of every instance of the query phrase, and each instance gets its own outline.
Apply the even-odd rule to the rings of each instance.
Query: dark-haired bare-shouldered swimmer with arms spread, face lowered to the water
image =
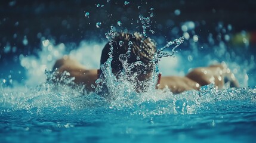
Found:
[[[124,44],[119,45],[122,41]],[[138,81],[149,79],[152,76],[155,64],[152,62],[156,52],[156,45],[150,38],[143,38],[143,35],[135,32],[132,36],[129,33],[116,33],[113,39],[113,60],[111,63],[112,73],[117,74],[122,70],[122,63],[119,60],[119,55],[125,54],[128,51],[128,42],[131,41],[131,54],[128,58],[128,63],[142,61],[147,68],[135,67],[133,72],[144,70],[138,74]],[[100,64],[104,64],[109,58],[110,45],[107,43],[101,53]],[[139,58],[137,58],[139,57]],[[95,91],[91,85],[97,86],[95,81],[100,77],[101,71],[98,69],[87,69],[82,64],[78,63],[65,55],[60,60],[57,60],[53,69],[57,69],[58,73],[67,71],[70,77],[75,77],[74,82],[85,85],[87,91]],[[230,86],[238,87],[238,82],[230,69],[224,64],[212,65],[209,67],[198,67],[190,71],[186,76],[162,76],[159,74],[158,84],[156,89],[169,88],[174,94],[183,91],[199,90],[201,86],[214,83],[215,87],[222,89],[226,82],[230,82]],[[135,83],[138,85],[138,83]]]

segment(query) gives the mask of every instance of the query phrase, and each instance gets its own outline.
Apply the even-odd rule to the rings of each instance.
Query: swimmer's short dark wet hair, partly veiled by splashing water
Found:
[[[107,61],[109,58],[110,47],[112,46],[112,71],[122,70],[123,67],[119,60],[119,55],[125,54],[128,51],[129,43],[131,42],[131,54],[128,58],[128,63],[131,64],[136,61],[141,61],[147,66],[147,68],[144,67],[144,69],[141,69],[141,67],[135,67],[133,70],[152,71],[155,67],[152,62],[156,52],[155,42],[150,38],[144,38],[143,35],[138,32],[135,32],[133,35],[131,33],[115,33],[115,38],[113,38],[112,44],[110,45],[108,42],[102,50],[100,64],[104,64]]]

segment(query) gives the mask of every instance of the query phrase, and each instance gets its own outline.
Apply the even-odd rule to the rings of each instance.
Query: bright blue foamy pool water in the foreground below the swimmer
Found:
[[[2,142],[253,142],[256,89],[106,101],[59,87],[4,91]],[[124,95],[120,95],[124,96]]]

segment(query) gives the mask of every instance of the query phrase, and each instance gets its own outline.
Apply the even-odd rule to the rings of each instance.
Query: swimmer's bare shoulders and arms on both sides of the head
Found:
[[[87,91],[94,91],[91,85],[96,86],[95,80],[99,76],[97,69],[87,70],[86,67],[67,56],[56,61],[53,69],[56,68],[59,73],[69,72],[70,77],[75,77],[74,82],[84,84]],[[198,67],[186,76],[163,76],[156,88],[169,88],[173,93],[178,94],[183,91],[199,90],[201,86],[214,83],[216,88],[221,89],[224,86],[224,78],[228,79],[234,87],[239,86],[234,74],[226,66],[218,64],[209,67]]]

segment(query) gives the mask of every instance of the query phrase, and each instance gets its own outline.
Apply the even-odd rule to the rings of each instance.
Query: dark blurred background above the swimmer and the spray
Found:
[[[154,8],[152,20],[153,37],[161,36],[166,41],[183,35],[180,30],[185,21],[196,24],[193,34],[199,36],[199,42],[208,43],[209,34],[220,41],[218,26],[232,26],[229,35],[253,33],[256,31],[255,0],[195,0],[195,1],[1,1],[0,2],[0,76],[5,76],[2,69],[19,63],[20,54],[36,54],[41,48],[41,41],[51,39],[58,43],[78,45],[84,39],[106,41],[104,33],[117,21],[122,22],[122,29],[142,32],[138,15],[149,16]],[[100,4],[100,7],[97,7]],[[104,5],[101,7],[101,5]],[[138,8],[140,6],[141,8]],[[174,13],[180,10],[180,15]],[[89,17],[85,17],[89,12]],[[101,22],[97,28],[95,23]],[[178,27],[178,32],[170,32]],[[150,36],[150,34],[149,34]],[[24,39],[26,39],[24,41]],[[250,41],[249,51],[255,52],[254,42]],[[243,47],[238,43],[230,47]],[[75,46],[72,46],[75,47]],[[241,48],[240,48],[241,49]],[[12,67],[13,70],[15,67]]]

